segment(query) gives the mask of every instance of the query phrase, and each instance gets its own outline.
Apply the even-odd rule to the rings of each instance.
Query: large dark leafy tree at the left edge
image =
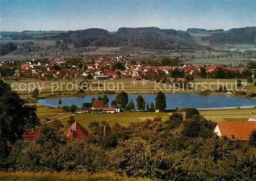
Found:
[[[35,111],[35,106],[25,105],[25,100],[0,80],[0,138],[11,143],[22,139],[24,128],[39,124]]]

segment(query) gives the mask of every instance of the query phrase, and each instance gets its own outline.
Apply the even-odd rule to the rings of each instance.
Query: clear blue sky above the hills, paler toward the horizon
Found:
[[[0,31],[255,26],[256,1],[0,0]]]

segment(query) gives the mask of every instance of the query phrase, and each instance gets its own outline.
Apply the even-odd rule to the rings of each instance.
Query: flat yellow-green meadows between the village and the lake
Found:
[[[173,81],[174,79],[171,79]],[[178,79],[182,80],[182,79]],[[208,94],[208,95],[232,95],[239,97],[249,97],[251,92],[256,92],[256,87],[252,83],[247,83],[245,79],[242,79],[242,84],[244,87],[236,87],[236,79],[195,79],[191,82],[191,89],[178,89],[173,86],[159,84],[152,81],[137,81],[136,84],[133,84],[134,79],[113,79],[113,80],[90,80],[92,84],[101,84],[104,87],[87,87],[84,91],[80,92],[80,87],[78,86],[76,89],[76,85],[79,82],[83,82],[82,79],[73,79],[71,81],[68,80],[59,80],[59,81],[40,81],[36,79],[25,79],[15,81],[5,81],[9,84],[17,83],[23,84],[23,86],[29,87],[29,84],[35,83],[39,85],[40,94],[39,98],[55,98],[55,97],[69,97],[69,96],[85,96],[85,95],[95,95],[95,94],[109,94],[109,93],[119,93],[120,91],[125,91],[129,94],[155,94],[158,91],[162,91],[164,93],[189,93],[189,94]],[[144,81],[144,83],[143,83]],[[205,84],[205,87],[210,88],[212,91],[204,92],[205,87],[202,84]],[[65,84],[66,86],[61,87],[61,84]],[[197,85],[198,84],[198,85]],[[214,85],[212,85],[214,84]],[[219,85],[217,85],[219,84]],[[58,85],[57,87],[52,87],[53,85]],[[109,87],[108,87],[109,85]],[[233,95],[225,92],[218,92],[218,88],[221,86],[226,87],[228,90],[236,90],[244,91],[247,95]],[[73,89],[72,89],[73,87]],[[54,91],[52,91],[53,89]],[[110,90],[110,91],[109,91]],[[209,90],[209,89],[208,89]],[[21,97],[25,99],[30,99],[32,91],[28,91],[28,89],[18,90],[18,93]],[[253,98],[253,97],[250,97]]]

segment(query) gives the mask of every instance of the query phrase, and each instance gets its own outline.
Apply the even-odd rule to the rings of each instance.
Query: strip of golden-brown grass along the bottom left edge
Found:
[[[0,172],[0,180],[90,180],[90,181],[105,181],[105,180],[131,180],[131,181],[146,181],[151,179],[146,178],[128,178],[127,176],[119,176],[117,174],[106,173],[50,173],[50,172]]]

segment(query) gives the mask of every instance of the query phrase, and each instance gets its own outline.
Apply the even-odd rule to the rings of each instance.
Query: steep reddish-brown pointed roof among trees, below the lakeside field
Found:
[[[88,131],[77,121],[73,122],[65,131],[64,135],[69,139],[82,137],[84,139],[88,138]]]

